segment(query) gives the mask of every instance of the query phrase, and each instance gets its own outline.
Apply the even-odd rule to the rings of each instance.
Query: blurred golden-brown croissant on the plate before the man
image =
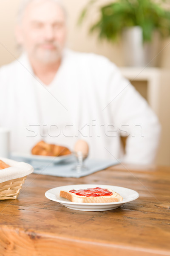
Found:
[[[31,153],[34,155],[60,157],[71,154],[71,151],[66,147],[48,144],[42,140],[32,148]]]

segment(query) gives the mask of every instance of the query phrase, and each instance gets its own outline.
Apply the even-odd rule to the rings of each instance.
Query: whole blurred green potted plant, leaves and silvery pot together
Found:
[[[91,0],[83,9],[79,23],[88,17],[92,6],[98,0]],[[128,53],[133,58],[138,55],[142,60],[137,60],[136,63],[132,59],[127,65],[146,65],[148,59],[144,60],[144,50],[148,53],[148,45],[154,41],[153,35],[155,32],[160,37],[168,37],[170,35],[170,10],[162,7],[165,0],[116,0],[105,6],[99,7],[99,19],[91,25],[90,32],[98,32],[99,38],[105,38],[108,41],[115,42],[123,36],[123,45],[125,55]],[[128,50],[131,47],[130,50]],[[138,45],[137,45],[138,44]],[[131,46],[130,46],[131,45]],[[152,49],[153,47],[151,47]],[[134,54],[133,54],[133,51]],[[155,55],[155,54],[154,54]],[[154,58],[152,56],[151,58]],[[128,60],[126,60],[128,62]],[[134,64],[133,64],[134,62]]]

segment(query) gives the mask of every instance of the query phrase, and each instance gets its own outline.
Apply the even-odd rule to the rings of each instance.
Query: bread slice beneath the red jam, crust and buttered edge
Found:
[[[68,199],[71,202],[75,203],[111,203],[111,202],[122,202],[123,198],[118,193],[114,192],[111,189],[108,189],[113,193],[113,195],[106,196],[82,196],[76,195],[66,190],[60,191],[60,196]]]

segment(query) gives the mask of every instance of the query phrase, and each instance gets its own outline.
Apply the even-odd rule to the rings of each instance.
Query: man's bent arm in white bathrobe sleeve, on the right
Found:
[[[124,163],[150,164],[156,158],[161,127],[146,100],[115,70],[108,108],[121,136],[128,136]]]

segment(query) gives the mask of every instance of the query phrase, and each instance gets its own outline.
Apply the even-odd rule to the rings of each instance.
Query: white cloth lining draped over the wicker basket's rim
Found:
[[[0,160],[11,166],[0,170],[0,183],[25,177],[34,172],[34,168],[28,163],[17,162],[3,157],[0,157]]]

